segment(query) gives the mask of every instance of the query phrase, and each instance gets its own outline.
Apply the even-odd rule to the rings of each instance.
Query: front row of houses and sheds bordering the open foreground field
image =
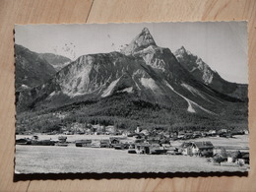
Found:
[[[185,141],[180,146],[171,146],[171,140],[166,138],[138,137],[140,134],[133,135],[133,139],[127,140],[128,137],[112,136],[109,139],[85,139],[76,140],[76,147],[83,148],[112,148],[115,150],[127,150],[129,154],[144,154],[144,155],[174,155],[174,156],[190,156],[190,157],[205,157],[215,158],[222,156],[223,161],[234,162],[235,160],[242,163],[249,163],[249,153],[240,151],[225,152],[224,148],[215,147],[210,141]],[[67,147],[70,145],[67,142],[66,136],[59,136],[58,141],[39,140],[37,136],[32,136],[32,139],[24,138],[16,140],[17,145],[34,145],[34,146],[59,146]],[[223,153],[224,151],[224,153]]]

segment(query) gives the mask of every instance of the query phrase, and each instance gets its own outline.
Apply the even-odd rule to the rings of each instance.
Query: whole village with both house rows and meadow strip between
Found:
[[[17,145],[58,146],[76,148],[104,148],[127,151],[128,154],[139,155],[169,155],[202,157],[215,164],[236,163],[238,166],[249,164],[248,147],[231,145],[214,145],[218,138],[225,140],[237,136],[248,136],[248,131],[209,130],[201,131],[149,131],[139,126],[135,131],[117,130],[115,126],[92,125],[89,129],[81,129],[79,124],[73,129],[63,129],[61,133],[50,132],[38,134],[17,134]],[[28,137],[23,138],[24,135]],[[29,137],[31,135],[31,137]],[[42,136],[48,139],[40,139]],[[50,137],[50,138],[49,138]],[[72,139],[69,139],[72,138]],[[235,142],[235,141],[234,141]]]

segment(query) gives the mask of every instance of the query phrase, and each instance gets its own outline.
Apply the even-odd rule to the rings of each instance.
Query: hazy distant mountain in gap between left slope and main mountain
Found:
[[[54,67],[55,71],[57,72],[66,67],[71,62],[71,59],[53,53],[40,53],[39,56],[46,60],[52,67]]]

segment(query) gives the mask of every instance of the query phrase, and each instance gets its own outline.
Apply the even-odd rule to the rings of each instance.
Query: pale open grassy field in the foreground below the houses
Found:
[[[248,165],[216,165],[205,158],[137,155],[113,149],[16,146],[16,173],[246,171]]]

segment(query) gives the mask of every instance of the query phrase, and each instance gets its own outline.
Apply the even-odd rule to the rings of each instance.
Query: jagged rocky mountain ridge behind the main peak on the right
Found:
[[[192,54],[181,46],[175,51],[179,63],[187,69],[193,77],[208,85],[210,88],[227,96],[248,99],[248,86],[225,81],[216,71],[213,71],[200,57]]]

